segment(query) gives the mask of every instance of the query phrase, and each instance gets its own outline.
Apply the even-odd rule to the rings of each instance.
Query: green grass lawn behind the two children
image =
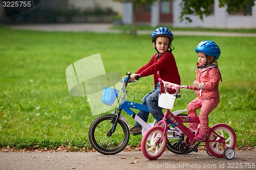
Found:
[[[39,32],[0,27],[0,148],[91,149],[88,130],[92,116],[86,98],[69,94],[65,70],[84,57],[101,54],[106,72],[136,71],[155,53],[151,35]],[[196,45],[216,41],[222,54],[219,68],[221,102],[209,115],[210,126],[230,125],[237,134],[237,147],[256,146],[255,37],[175,36],[173,51],[183,85],[195,80]],[[95,68],[92,68],[95,69]],[[131,86],[130,96],[151,91],[149,76]],[[143,87],[147,88],[143,88]],[[150,88],[148,88],[150,87]],[[196,94],[182,90],[174,110],[185,109]],[[141,96],[140,95],[140,96]],[[128,99],[129,100],[129,99]],[[141,102],[136,98],[135,102]],[[130,125],[134,120],[129,115]],[[153,121],[153,118],[150,118]],[[141,136],[131,135],[129,144],[140,145]]]

